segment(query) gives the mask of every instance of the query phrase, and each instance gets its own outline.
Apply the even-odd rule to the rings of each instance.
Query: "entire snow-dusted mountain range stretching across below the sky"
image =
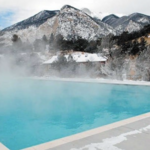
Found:
[[[91,41],[110,33],[121,34],[123,31],[137,31],[147,24],[150,24],[150,16],[140,13],[121,18],[111,14],[101,20],[87,8],[79,10],[65,5],[60,10],[42,11],[2,30],[0,39],[10,45],[12,35],[17,34],[23,42],[32,43],[44,35],[49,39],[53,34],[54,37],[61,35],[65,40],[82,38]]]

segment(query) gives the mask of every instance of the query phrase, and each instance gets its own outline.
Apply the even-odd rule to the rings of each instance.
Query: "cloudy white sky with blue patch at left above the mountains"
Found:
[[[89,8],[99,15],[150,15],[150,0],[0,0],[0,28],[22,21],[42,10],[59,10],[65,4]]]

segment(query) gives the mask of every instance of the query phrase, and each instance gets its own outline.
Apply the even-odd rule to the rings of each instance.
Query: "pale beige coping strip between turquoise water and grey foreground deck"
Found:
[[[35,146],[32,146],[32,147],[28,147],[28,148],[25,148],[25,149],[22,149],[22,150],[46,150],[46,149],[50,149],[50,148],[55,148],[57,146],[61,146],[61,145],[64,145],[64,144],[67,144],[67,143],[70,143],[70,142],[73,142],[73,141],[76,141],[76,140],[80,140],[80,139],[83,139],[83,138],[86,138],[86,137],[89,137],[89,136],[92,136],[92,135],[96,135],[96,134],[99,134],[99,133],[102,133],[102,132],[105,132],[105,131],[109,131],[111,129],[121,127],[123,125],[127,125],[127,124],[130,124],[130,123],[134,123],[136,121],[140,121],[140,120],[143,120],[143,119],[148,118],[148,117],[150,117],[150,112],[146,113],[146,114],[143,114],[143,115],[136,116],[136,117],[132,117],[132,118],[129,118],[129,119],[125,119],[125,120],[122,120],[122,121],[119,121],[119,122],[115,122],[115,123],[112,123],[112,124],[109,124],[109,125],[105,125],[105,126],[102,126],[102,127],[99,127],[99,128],[95,128],[95,129],[92,129],[92,130],[81,132],[81,133],[78,133],[78,134],[75,134],[75,135],[71,135],[71,136],[64,137],[64,138],[61,138],[61,139],[57,139],[57,140],[54,140],[54,141],[50,141],[50,142],[47,142],[47,143],[43,143],[43,144],[35,145]]]

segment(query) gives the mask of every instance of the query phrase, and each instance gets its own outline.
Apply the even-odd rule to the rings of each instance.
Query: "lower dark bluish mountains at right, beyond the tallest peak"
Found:
[[[112,14],[103,18],[102,22],[112,26],[118,33],[122,33],[123,31],[133,32],[150,24],[150,16],[133,13],[129,16],[119,18]]]

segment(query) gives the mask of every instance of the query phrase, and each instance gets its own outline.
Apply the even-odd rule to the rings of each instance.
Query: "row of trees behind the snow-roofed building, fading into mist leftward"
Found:
[[[52,51],[63,51],[63,50],[74,50],[94,53],[98,51],[98,45],[101,44],[101,39],[96,41],[88,41],[81,37],[72,40],[65,40],[61,34],[56,37],[51,34],[50,37],[43,35],[41,39],[35,39],[33,43],[29,41],[23,42],[21,38],[14,34],[12,36],[12,52],[43,52],[44,50]],[[46,48],[47,47],[47,48]]]

